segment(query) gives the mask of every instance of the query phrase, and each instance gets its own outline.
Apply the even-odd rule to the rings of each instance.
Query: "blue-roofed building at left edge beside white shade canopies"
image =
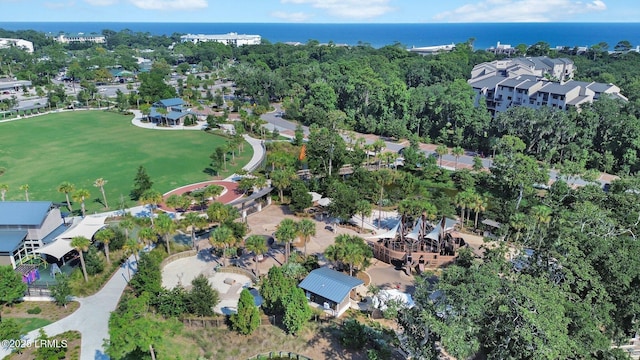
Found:
[[[0,265],[15,268],[63,229],[60,209],[51,201],[0,202]]]

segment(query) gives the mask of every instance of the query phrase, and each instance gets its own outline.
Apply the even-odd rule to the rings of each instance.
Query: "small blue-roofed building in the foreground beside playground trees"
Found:
[[[309,301],[332,310],[338,317],[351,305],[351,291],[362,284],[364,282],[358,278],[321,267],[311,271],[298,286],[305,291]]]

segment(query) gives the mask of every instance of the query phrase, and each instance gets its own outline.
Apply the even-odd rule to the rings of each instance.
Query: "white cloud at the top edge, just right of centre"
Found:
[[[308,4],[329,15],[345,19],[371,19],[394,9],[388,5],[390,0],[280,0],[283,4]]]

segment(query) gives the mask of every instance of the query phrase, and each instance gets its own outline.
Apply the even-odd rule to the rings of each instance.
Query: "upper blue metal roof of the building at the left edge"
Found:
[[[51,209],[51,201],[1,201],[0,226],[42,224]]]

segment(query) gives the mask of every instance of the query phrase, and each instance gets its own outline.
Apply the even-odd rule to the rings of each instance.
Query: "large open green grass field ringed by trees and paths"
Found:
[[[29,184],[30,200],[64,202],[57,191],[63,181],[76,189],[89,190],[87,211],[103,210],[97,178],[105,186],[111,209],[119,208],[121,195],[126,206],[138,166],[143,165],[153,188],[164,193],[178,186],[210,180],[204,172],[209,155],[226,139],[203,131],[141,129],[131,124],[131,115],[102,111],[75,111],[0,123],[0,167],[6,168],[0,183],[9,185],[7,200],[24,200],[19,190]],[[230,174],[253,155],[245,146]],[[225,175],[223,173],[222,175]],[[74,210],[79,209],[79,204]]]

